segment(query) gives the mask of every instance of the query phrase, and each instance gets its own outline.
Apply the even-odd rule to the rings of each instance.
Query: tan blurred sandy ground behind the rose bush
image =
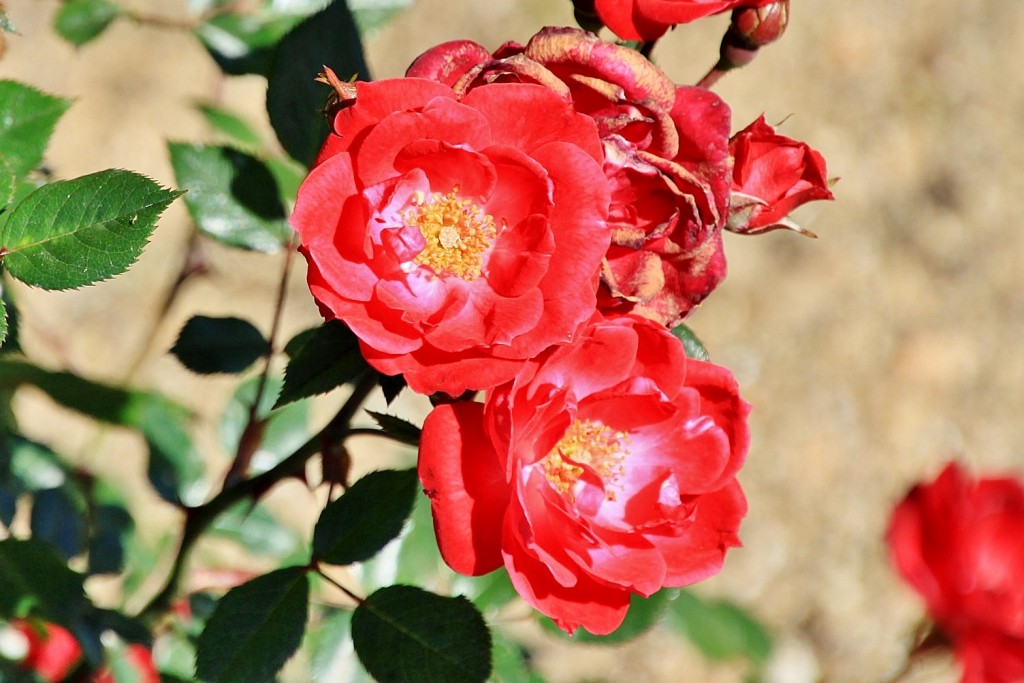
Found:
[[[5,4],[20,35],[8,38],[0,78],[77,99],[47,155],[56,177],[123,167],[174,184],[165,141],[210,137],[199,100],[248,113],[272,138],[265,83],[224,80],[186,32],[122,22],[76,50],[49,29],[56,2]],[[187,17],[184,0],[125,4]],[[568,0],[416,0],[369,41],[368,56],[377,78],[399,76],[440,41],[496,47],[570,23]],[[677,82],[695,82],[726,25],[720,16],[679,29],[655,59]],[[773,629],[769,680],[892,677],[921,606],[888,564],[890,507],[953,456],[977,471],[1024,475],[1022,36],[1024,3],[1007,0],[794,0],[782,41],[716,88],[734,129],[762,112],[785,120],[781,131],[820,150],[842,177],[837,202],[796,216],[819,240],[728,236],[729,278],[690,318],[755,405],[741,474],[744,548],[702,590],[738,600]],[[187,232],[176,202],[128,274],[80,292],[17,290],[32,356],[123,378]],[[175,305],[134,381],[195,407],[213,442],[232,382],[197,380],[165,350],[200,312],[244,315],[265,332],[280,259],[209,254],[213,273]],[[286,335],[317,321],[301,276]],[[31,392],[19,400],[20,410],[47,410]],[[29,427],[73,458],[96,451],[74,420]],[[141,477],[137,442],[115,434],[104,444],[90,467]],[[138,490],[136,502],[159,514]],[[308,496],[297,496],[305,505]],[[542,644],[537,660],[551,681],[742,680],[660,635],[611,649]],[[956,678],[939,656],[902,680]]]

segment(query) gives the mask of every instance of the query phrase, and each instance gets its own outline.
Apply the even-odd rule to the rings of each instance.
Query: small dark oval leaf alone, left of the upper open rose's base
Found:
[[[266,355],[270,342],[248,321],[194,315],[171,348],[194,373],[241,373]]]

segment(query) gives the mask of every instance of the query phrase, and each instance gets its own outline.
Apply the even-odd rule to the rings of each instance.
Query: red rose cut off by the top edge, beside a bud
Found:
[[[669,27],[736,7],[760,7],[775,0],[575,0],[594,5],[598,18],[624,40],[657,40]]]

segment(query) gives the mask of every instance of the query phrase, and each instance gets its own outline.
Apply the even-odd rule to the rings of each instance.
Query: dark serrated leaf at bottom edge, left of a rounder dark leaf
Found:
[[[309,607],[305,567],[271,571],[220,599],[197,649],[205,683],[263,683],[298,649]]]

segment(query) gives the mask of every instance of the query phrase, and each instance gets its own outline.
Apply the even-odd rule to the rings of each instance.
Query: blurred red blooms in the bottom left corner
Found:
[[[82,646],[63,627],[27,620],[14,620],[10,626],[26,641],[22,669],[32,672],[39,680],[47,683],[68,680],[82,663]],[[130,669],[138,683],[160,683],[153,654],[145,646],[137,643],[127,645],[124,660],[127,665],[125,671]],[[115,683],[116,680],[120,679],[116,679],[112,668],[105,665],[88,678],[89,683]]]

